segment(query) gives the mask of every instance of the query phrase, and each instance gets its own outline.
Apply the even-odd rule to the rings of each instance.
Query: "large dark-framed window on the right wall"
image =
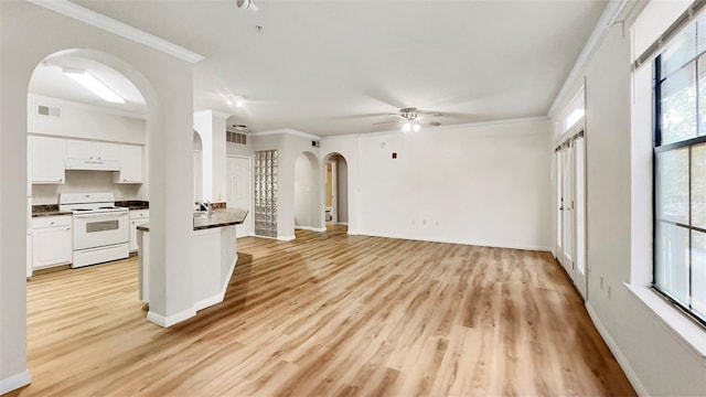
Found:
[[[654,61],[653,288],[706,325],[706,17]]]

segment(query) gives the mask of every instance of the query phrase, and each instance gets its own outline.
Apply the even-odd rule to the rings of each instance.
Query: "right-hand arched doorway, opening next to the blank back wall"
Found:
[[[327,226],[349,224],[349,163],[340,153],[324,158],[323,213]]]

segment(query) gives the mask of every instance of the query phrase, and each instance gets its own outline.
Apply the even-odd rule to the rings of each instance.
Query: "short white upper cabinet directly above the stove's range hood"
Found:
[[[66,170],[119,171],[120,144],[66,140]]]

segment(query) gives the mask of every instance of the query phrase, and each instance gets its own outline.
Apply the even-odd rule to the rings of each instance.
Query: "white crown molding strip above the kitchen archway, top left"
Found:
[[[88,10],[67,0],[28,0],[39,7],[52,10],[62,15],[73,18],[92,26],[103,29],[106,32],[117,34],[121,37],[147,45],[151,49],[161,51],[165,54],[175,56],[182,61],[195,64],[204,58],[203,55],[189,51],[167,40],[149,34],[137,28],[132,28],[126,23],[114,20],[98,12]]]

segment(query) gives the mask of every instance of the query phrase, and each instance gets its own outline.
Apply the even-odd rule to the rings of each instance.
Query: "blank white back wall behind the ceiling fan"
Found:
[[[533,120],[361,136],[359,233],[548,250],[549,127]]]

